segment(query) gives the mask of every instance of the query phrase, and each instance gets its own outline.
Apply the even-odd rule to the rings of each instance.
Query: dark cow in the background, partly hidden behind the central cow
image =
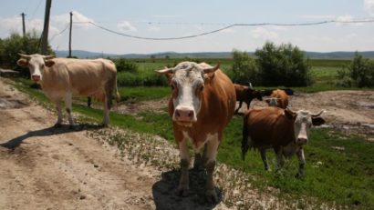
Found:
[[[249,109],[249,105],[251,105],[251,101],[254,98],[257,98],[257,100],[259,101],[263,100],[263,95],[261,94],[261,92],[253,89],[252,86],[234,84],[234,87],[236,93],[236,101],[239,101],[239,106],[236,108],[235,113],[238,113],[239,109],[242,107],[243,102],[245,102],[246,108]]]

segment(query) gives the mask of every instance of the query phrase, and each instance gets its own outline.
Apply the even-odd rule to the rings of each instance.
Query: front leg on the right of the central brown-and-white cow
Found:
[[[217,155],[217,150],[218,146],[220,145],[220,140],[222,138],[222,135],[211,135],[208,137],[207,141],[207,150],[206,150],[206,197],[209,202],[212,203],[217,203],[218,202],[218,197],[215,192],[215,185],[214,185],[214,180],[213,180],[213,172],[214,172],[214,167],[215,167],[215,157]]]

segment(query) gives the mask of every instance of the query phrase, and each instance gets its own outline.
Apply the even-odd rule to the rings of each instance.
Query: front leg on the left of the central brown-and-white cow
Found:
[[[179,143],[179,151],[181,156],[181,179],[179,180],[178,195],[188,195],[190,180],[188,168],[190,166],[190,153],[187,146],[187,139],[183,139]]]

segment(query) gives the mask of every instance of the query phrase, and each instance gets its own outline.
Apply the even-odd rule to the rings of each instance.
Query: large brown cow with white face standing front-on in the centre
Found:
[[[189,189],[190,154],[187,142],[190,141],[196,153],[194,165],[199,165],[196,161],[202,161],[207,172],[205,195],[210,202],[217,202],[213,171],[223,128],[234,115],[234,85],[219,65],[213,67],[205,63],[182,62],[157,72],[166,75],[171,85],[169,115],[181,158],[177,192],[187,195]],[[199,158],[205,145],[203,158]]]

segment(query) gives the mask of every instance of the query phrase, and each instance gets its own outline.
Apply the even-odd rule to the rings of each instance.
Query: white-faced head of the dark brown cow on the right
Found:
[[[295,112],[289,108],[286,108],[285,115],[294,122],[296,145],[306,145],[307,134],[312,125],[322,125],[325,123],[325,120],[319,116],[322,113],[324,113],[324,111],[320,111],[317,114],[312,114],[306,110],[299,110]]]

